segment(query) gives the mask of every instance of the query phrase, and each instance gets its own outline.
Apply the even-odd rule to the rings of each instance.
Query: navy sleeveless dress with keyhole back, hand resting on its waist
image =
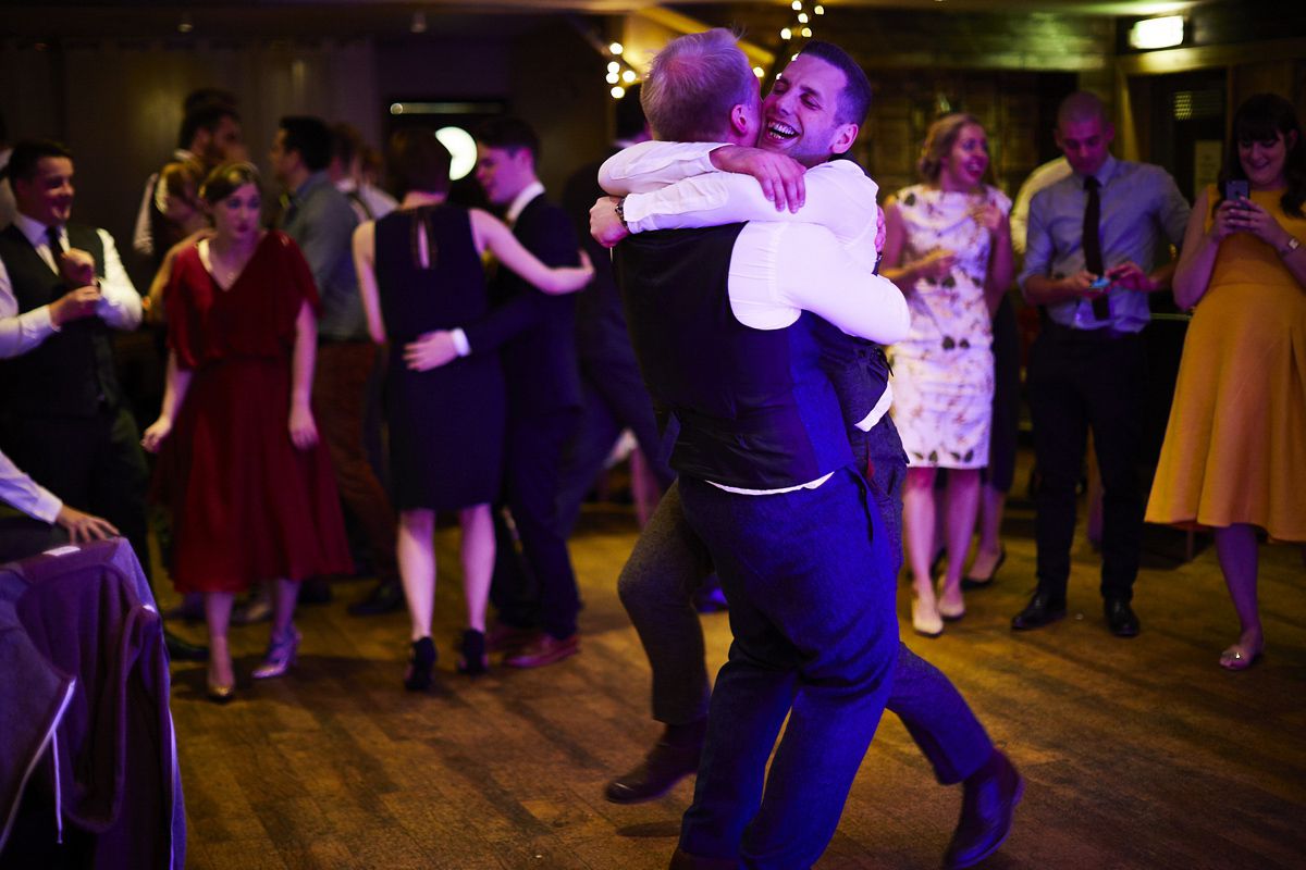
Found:
[[[430,252],[424,269],[422,228]],[[385,413],[394,507],[456,510],[495,501],[507,412],[499,353],[473,352],[430,372],[404,363],[409,342],[466,326],[490,310],[468,210],[426,206],[377,220],[376,284],[389,338]]]

